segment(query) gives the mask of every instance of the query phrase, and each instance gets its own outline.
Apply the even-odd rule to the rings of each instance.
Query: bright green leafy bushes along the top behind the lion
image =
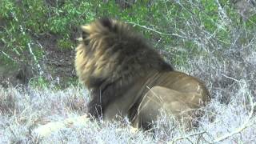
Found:
[[[205,55],[206,49],[214,50],[214,42],[228,49],[234,40],[234,30],[254,30],[256,22],[255,15],[242,22],[230,2],[224,0],[138,1],[126,8],[115,1],[56,2],[53,5],[34,0],[0,1],[0,20],[5,22],[0,27],[0,46],[3,44],[4,52],[0,60],[4,64],[40,61],[46,48],[39,48],[36,41],[42,35],[54,34],[59,50],[74,50],[78,27],[103,16],[131,23],[158,50],[166,51],[165,57],[175,65],[183,65],[191,54],[195,57]],[[248,34],[249,39],[252,37]],[[248,38],[238,38],[238,42],[248,42]],[[218,53],[222,50],[214,51]]]

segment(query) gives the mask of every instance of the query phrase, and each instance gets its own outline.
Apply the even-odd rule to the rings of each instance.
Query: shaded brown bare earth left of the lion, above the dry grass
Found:
[[[78,38],[78,34],[72,34],[72,42],[76,45],[74,38]],[[70,82],[74,82],[76,78],[74,70],[74,49],[61,50],[57,46],[58,39],[61,38],[57,34],[42,34],[32,36],[35,43],[42,46],[44,57],[40,60],[42,68],[42,76],[54,82],[59,86],[66,87]],[[3,45],[0,43],[0,47]],[[1,64],[1,62],[0,62]],[[0,84],[2,86],[16,86],[17,84],[27,85],[30,78],[38,78],[37,66],[33,62],[18,63],[17,66],[0,66]]]

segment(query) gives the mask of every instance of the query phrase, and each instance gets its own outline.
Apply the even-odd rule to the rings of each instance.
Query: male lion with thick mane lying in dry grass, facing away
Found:
[[[140,34],[111,18],[82,26],[75,69],[91,90],[92,117],[127,116],[133,126],[144,130],[150,129],[160,110],[190,126],[190,110],[210,100],[198,78],[175,71]]]

